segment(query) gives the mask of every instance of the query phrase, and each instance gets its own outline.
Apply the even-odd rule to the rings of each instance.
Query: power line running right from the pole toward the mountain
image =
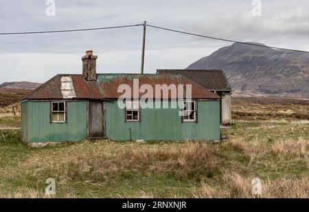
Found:
[[[221,41],[227,41],[227,42],[231,42],[231,43],[240,43],[240,44],[244,44],[244,45],[272,48],[272,49],[285,50],[285,51],[295,51],[295,52],[301,52],[301,53],[309,53],[309,51],[302,51],[302,50],[297,50],[297,49],[286,49],[286,48],[280,48],[280,47],[271,47],[271,46],[266,46],[266,45],[260,45],[258,43],[246,43],[246,42],[237,41],[237,40],[229,40],[229,39],[224,39],[224,38],[216,38],[216,37],[212,37],[212,36],[205,36],[205,35],[201,35],[201,34],[195,34],[195,33],[191,33],[191,32],[172,30],[172,29],[169,29],[169,28],[159,27],[159,26],[155,26],[155,25],[149,25],[149,24],[146,24],[146,25],[148,27],[157,28],[159,30],[166,30],[166,31],[170,31],[170,32],[177,32],[177,33],[181,33],[181,34],[188,34],[188,35],[192,35],[192,36],[198,36],[198,37],[202,37],[202,38],[209,38],[209,39],[213,39],[213,40],[221,40]]]

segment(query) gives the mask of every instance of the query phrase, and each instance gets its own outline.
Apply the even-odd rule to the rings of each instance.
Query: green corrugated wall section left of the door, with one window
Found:
[[[23,102],[23,141],[80,141],[87,137],[86,102],[67,102],[67,123],[50,123],[49,107],[49,102]]]

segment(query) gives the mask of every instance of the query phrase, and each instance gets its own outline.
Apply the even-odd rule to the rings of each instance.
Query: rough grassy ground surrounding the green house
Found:
[[[20,130],[0,130],[0,197],[47,197],[45,180],[52,177],[58,198],[251,198],[258,177],[261,197],[308,198],[308,105],[248,101],[233,99],[236,119],[220,143],[102,140],[30,148],[19,141]],[[3,116],[0,126],[18,127],[19,120]]]

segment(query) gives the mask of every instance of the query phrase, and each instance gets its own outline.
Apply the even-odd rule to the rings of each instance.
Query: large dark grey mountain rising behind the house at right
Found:
[[[236,93],[309,99],[306,53],[234,43],[187,69],[222,69]]]

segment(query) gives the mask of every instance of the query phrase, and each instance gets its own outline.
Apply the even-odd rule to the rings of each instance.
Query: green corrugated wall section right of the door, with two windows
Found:
[[[125,122],[124,109],[117,102],[106,102],[107,137],[128,141],[129,128],[132,140],[219,140],[220,102],[199,101],[198,123],[181,123],[179,108],[141,109],[141,121]]]

